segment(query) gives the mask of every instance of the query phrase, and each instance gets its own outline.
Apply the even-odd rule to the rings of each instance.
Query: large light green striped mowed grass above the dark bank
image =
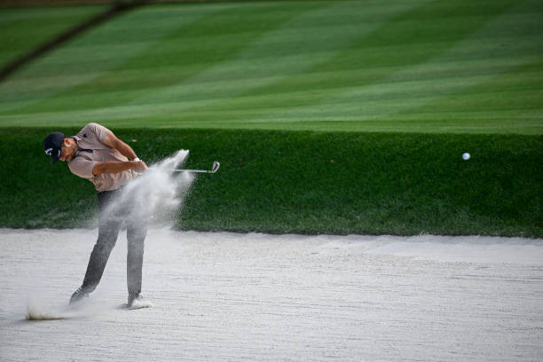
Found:
[[[537,135],[541,19],[539,0],[147,5],[1,83],[0,127]]]

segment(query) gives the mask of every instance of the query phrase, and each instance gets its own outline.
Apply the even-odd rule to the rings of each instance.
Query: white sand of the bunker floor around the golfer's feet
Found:
[[[122,232],[66,310],[96,235],[0,230],[0,360],[543,360],[543,240],[151,230],[125,311]]]

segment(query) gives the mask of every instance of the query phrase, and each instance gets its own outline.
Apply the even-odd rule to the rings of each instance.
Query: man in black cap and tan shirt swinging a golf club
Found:
[[[59,160],[67,161],[73,174],[91,181],[98,191],[98,240],[92,249],[83,285],[72,295],[70,304],[81,301],[98,286],[124,222],[128,240],[127,306],[132,308],[135,301],[142,301],[141,270],[146,220],[133,216],[144,213],[131,212],[132,208],[142,208],[142,205],[127,205],[126,202],[117,205],[114,201],[123,185],[147,169],[146,163],[140,161],[134,150],[116,138],[112,131],[97,123],[87,124],[73,137],[53,132],[44,139],[43,148],[51,156],[53,164]]]

